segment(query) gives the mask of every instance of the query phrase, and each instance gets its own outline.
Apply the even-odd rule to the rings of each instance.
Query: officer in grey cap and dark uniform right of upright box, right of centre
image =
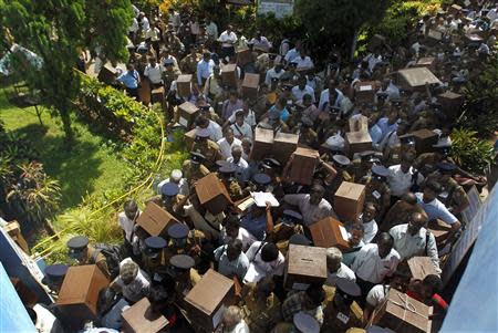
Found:
[[[382,220],[391,205],[391,189],[387,185],[390,170],[382,165],[372,167],[372,177],[365,184],[365,202],[372,201],[378,214],[376,219]]]

